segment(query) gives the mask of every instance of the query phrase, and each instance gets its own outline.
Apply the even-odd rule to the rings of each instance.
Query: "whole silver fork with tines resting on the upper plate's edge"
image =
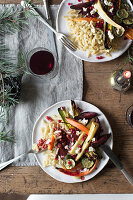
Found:
[[[53,31],[59,41],[63,43],[63,45],[67,48],[69,48],[71,51],[76,51],[77,47],[71,40],[67,38],[66,35],[62,33],[58,33],[50,24],[41,17],[41,15],[33,8],[32,5],[28,4],[26,1],[21,1],[21,5],[26,9],[28,9],[29,12],[31,12],[33,15],[35,15],[42,23],[44,23],[48,28]]]

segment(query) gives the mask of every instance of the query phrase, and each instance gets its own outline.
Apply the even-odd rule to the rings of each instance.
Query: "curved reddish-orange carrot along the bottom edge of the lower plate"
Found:
[[[69,176],[86,176],[86,175],[92,173],[96,169],[97,165],[98,165],[98,160],[95,161],[95,164],[93,165],[92,168],[90,168],[89,170],[87,170],[85,172],[77,172],[77,171],[73,172],[71,170],[65,170],[65,169],[61,169],[61,168],[58,170]]]

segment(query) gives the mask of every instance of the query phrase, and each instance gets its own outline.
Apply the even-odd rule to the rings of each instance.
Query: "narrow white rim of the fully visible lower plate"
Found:
[[[48,110],[50,110],[52,107],[57,106],[58,104],[65,103],[65,102],[69,102],[69,101],[71,101],[71,100],[68,99],[68,100],[59,101],[59,102],[57,102],[57,103],[55,103],[55,104],[49,106],[48,108],[46,108],[46,109],[39,115],[39,117],[37,118],[37,120],[36,120],[35,123],[34,123],[33,130],[32,130],[32,145],[33,145],[33,143],[34,143],[34,136],[35,136],[34,133],[35,133],[36,125],[37,125],[38,121],[40,120],[40,118],[44,115],[44,113],[47,112]],[[93,105],[93,104],[91,104],[91,103],[88,103],[88,102],[82,101],[82,100],[77,100],[77,99],[75,99],[74,101],[75,101],[75,102],[76,102],[76,101],[77,101],[77,102],[80,102],[81,104],[82,104],[82,103],[87,103],[87,104],[89,104],[90,106],[96,107],[96,108],[102,113],[102,115],[103,115],[103,116],[105,117],[105,119],[107,120],[107,123],[108,123],[108,125],[109,125],[110,130],[111,130],[111,143],[110,143],[110,148],[113,149],[113,131],[112,131],[111,125],[110,125],[110,123],[109,123],[107,117],[104,115],[104,113],[103,113],[97,106],[95,106],[95,105]],[[47,172],[45,171],[45,168],[41,165],[41,163],[40,163],[40,161],[39,161],[37,155],[34,154],[34,156],[35,156],[35,158],[36,158],[36,160],[37,160],[37,163],[38,163],[39,166],[41,167],[41,169],[42,169],[45,173],[47,173]],[[106,158],[106,164],[103,165],[103,166],[101,167],[101,170],[100,170],[99,172],[97,172],[97,174],[99,174],[99,173],[103,170],[103,168],[107,165],[108,161],[109,161],[109,157]],[[60,172],[60,173],[61,173],[61,172]],[[53,175],[50,175],[49,173],[47,173],[47,175],[49,175],[50,177],[54,178],[55,180],[60,181],[60,182],[64,182],[64,183],[79,183],[79,182],[88,181],[88,180],[94,178],[97,174],[95,174],[93,177],[90,177],[90,178],[87,179],[87,180],[80,180],[80,179],[78,179],[78,180],[80,180],[80,181],[76,181],[76,179],[75,179],[75,181],[73,181],[73,182],[71,182],[71,181],[70,181],[70,182],[68,182],[68,181],[66,182],[66,181],[58,180],[58,179],[55,178]]]

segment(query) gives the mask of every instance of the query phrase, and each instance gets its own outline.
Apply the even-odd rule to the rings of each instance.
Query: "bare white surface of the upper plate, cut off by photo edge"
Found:
[[[133,10],[133,5],[131,4],[130,0],[127,0],[127,2],[130,4],[132,10]],[[72,4],[77,4],[78,0],[63,0],[62,3],[60,4],[58,14],[57,14],[57,21],[56,21],[56,28],[58,32],[64,33],[65,35],[69,35],[69,31],[66,25],[66,20],[63,18],[64,16],[67,15],[67,12],[70,10],[70,6],[68,6],[68,3]],[[118,47],[118,50],[116,52],[111,53],[111,57],[108,57],[104,54],[102,56],[104,57],[103,59],[96,59],[96,55],[93,55],[91,57],[87,57],[87,52],[77,50],[76,52],[70,51],[73,55],[76,57],[80,58],[81,60],[88,61],[88,62],[106,62],[113,60],[115,58],[118,58],[121,56],[131,45],[132,41],[131,40],[122,40],[120,46]]]

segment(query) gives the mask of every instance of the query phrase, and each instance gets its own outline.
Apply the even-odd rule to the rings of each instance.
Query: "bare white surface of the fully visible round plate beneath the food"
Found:
[[[83,111],[90,111],[90,112],[92,111],[92,112],[98,113],[102,128],[104,129],[104,133],[106,133],[106,134],[107,133],[108,134],[111,133],[111,137],[107,141],[107,144],[112,149],[112,147],[113,147],[113,134],[112,134],[112,130],[111,130],[110,124],[109,124],[107,118],[105,117],[105,115],[96,106],[94,106],[94,105],[92,105],[90,103],[87,103],[87,102],[84,102],[84,101],[78,101],[78,100],[75,100],[75,102],[76,102],[76,105],[78,105]],[[53,106],[51,106],[48,109],[46,109],[41,114],[41,116],[37,119],[37,121],[36,121],[36,123],[34,125],[34,128],[33,128],[32,144],[33,143],[37,143],[38,140],[41,138],[40,129],[41,129],[41,126],[42,126],[42,122],[41,122],[42,119],[44,119],[45,116],[58,114],[57,109],[59,107],[63,107],[63,106],[66,106],[66,107],[70,108],[70,100],[61,101],[59,103],[56,103]],[[99,165],[98,165],[97,169],[94,172],[92,172],[91,174],[85,176],[85,180],[84,181],[87,181],[87,180],[93,178],[96,174],[98,174],[105,167],[105,165],[107,164],[109,158],[104,153],[102,153],[102,154],[103,154],[103,158],[99,162]],[[58,170],[56,170],[55,168],[53,168],[51,166],[50,167],[46,167],[46,168],[43,167],[43,160],[44,160],[43,153],[39,153],[39,154],[35,155],[35,157],[36,157],[40,167],[47,174],[52,176],[54,179],[56,179],[58,181],[61,181],[61,182],[65,182],[65,183],[76,183],[76,182],[82,182],[83,181],[81,179],[77,179],[75,177],[65,175],[65,174],[59,172]]]

